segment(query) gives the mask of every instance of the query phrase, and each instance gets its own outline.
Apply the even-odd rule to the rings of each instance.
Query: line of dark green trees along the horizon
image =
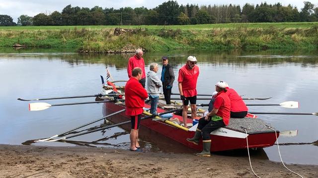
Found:
[[[281,3],[245,3],[239,5],[179,5],[177,1],[163,2],[153,9],[122,7],[119,9],[94,6],[72,7],[62,12],[39,13],[34,17],[20,15],[17,24],[9,15],[0,15],[0,26],[48,25],[188,25],[240,22],[313,22],[318,21],[318,7],[309,1],[300,10]]]

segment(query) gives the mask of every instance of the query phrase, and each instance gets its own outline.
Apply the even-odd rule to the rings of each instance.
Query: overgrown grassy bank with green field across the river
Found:
[[[29,47],[75,48],[88,52],[120,51],[137,47],[147,51],[318,49],[318,23],[209,24],[146,28],[128,26],[135,27],[136,31],[120,36],[114,35],[114,27],[82,27],[2,27],[0,46],[9,47],[18,43]],[[36,28],[38,30],[35,30]]]

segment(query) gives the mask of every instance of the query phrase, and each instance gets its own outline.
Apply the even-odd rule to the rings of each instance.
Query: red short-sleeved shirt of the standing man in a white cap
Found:
[[[199,67],[194,66],[189,69],[187,64],[179,69],[178,82],[182,83],[182,92],[185,97],[192,97],[197,95],[197,81],[199,77]]]

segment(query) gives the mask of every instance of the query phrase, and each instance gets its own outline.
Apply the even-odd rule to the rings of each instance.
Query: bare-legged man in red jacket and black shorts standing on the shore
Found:
[[[135,67],[132,70],[132,77],[125,86],[126,115],[131,117],[130,151],[141,151],[138,143],[138,129],[141,115],[144,112],[144,100],[148,98],[146,89],[139,82],[142,76],[142,69]]]

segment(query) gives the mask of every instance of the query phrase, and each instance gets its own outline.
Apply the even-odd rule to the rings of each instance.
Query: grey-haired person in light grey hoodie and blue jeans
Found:
[[[161,81],[157,76],[158,63],[151,63],[149,67],[150,71],[147,73],[147,89],[150,99],[150,113],[157,115],[157,103],[159,100],[160,87],[162,87]]]

